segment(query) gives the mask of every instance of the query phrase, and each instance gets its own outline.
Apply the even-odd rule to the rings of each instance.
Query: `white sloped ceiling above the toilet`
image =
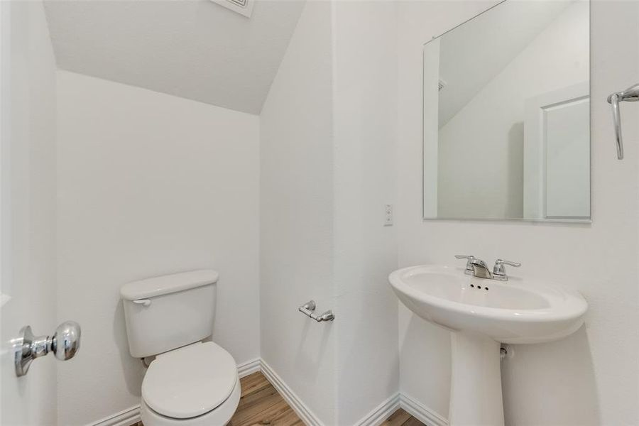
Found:
[[[45,1],[62,70],[259,114],[304,2]]]

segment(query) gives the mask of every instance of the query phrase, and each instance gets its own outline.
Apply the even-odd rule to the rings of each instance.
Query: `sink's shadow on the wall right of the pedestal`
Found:
[[[557,342],[510,347],[501,364],[506,425],[602,424],[585,325]]]

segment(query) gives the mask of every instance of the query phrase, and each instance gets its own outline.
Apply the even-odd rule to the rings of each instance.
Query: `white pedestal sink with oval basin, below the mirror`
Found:
[[[500,344],[566,337],[588,308],[579,293],[556,285],[474,278],[463,268],[413,266],[388,280],[408,309],[452,332],[450,426],[503,425]]]

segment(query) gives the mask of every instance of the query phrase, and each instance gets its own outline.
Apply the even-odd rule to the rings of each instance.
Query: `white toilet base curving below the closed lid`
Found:
[[[144,400],[142,400],[140,415],[144,426],[224,426],[229,423],[231,417],[235,414],[235,410],[237,410],[237,405],[239,404],[240,395],[241,386],[239,378],[237,378],[237,382],[235,383],[235,387],[233,388],[229,398],[208,413],[204,413],[197,417],[190,417],[188,419],[176,419],[161,415],[151,409],[148,405],[146,405]]]

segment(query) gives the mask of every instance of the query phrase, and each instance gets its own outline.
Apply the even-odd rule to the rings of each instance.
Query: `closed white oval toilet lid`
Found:
[[[229,398],[237,366],[213,342],[198,343],[158,356],[142,382],[142,398],[161,415],[178,419],[207,413]]]

